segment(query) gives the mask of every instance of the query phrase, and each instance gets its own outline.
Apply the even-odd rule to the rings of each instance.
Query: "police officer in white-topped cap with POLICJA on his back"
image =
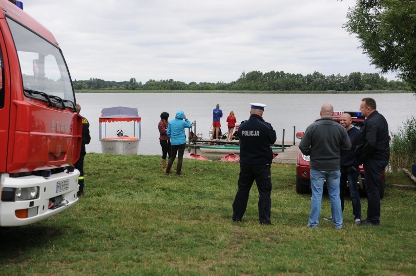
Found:
[[[270,144],[276,141],[276,132],[263,119],[266,107],[262,103],[250,103],[250,118],[238,129],[240,138],[240,176],[238,190],[232,203],[232,220],[241,221],[246,212],[251,186],[256,180],[259,191],[259,222],[271,224],[271,178],[270,164],[273,153]]]

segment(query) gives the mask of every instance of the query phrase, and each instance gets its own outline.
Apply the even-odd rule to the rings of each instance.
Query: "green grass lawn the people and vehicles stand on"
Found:
[[[231,221],[239,164],[184,159],[176,177],[160,159],[87,154],[73,208],[1,232],[0,274],[415,275],[415,191],[389,175],[380,227],[356,226],[346,201],[342,230],[323,219],[312,230],[292,164],[272,165],[274,225],[264,226],[255,185],[243,221]],[[330,213],[324,197],[321,218]]]

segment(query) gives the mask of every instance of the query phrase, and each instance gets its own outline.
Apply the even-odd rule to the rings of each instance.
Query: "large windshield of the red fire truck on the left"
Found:
[[[60,49],[9,18],[7,23],[19,57],[24,95],[75,109],[74,90]]]

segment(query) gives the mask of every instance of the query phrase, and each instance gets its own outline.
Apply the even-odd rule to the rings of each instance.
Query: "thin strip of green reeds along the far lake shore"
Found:
[[[362,90],[362,91],[249,91],[249,90],[110,90],[80,89],[75,93],[224,93],[224,94],[403,94],[414,93],[406,90]]]

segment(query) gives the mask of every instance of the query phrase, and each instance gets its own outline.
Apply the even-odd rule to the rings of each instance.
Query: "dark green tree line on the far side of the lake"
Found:
[[[108,81],[103,79],[74,80],[75,90],[228,90],[228,91],[362,91],[362,90],[408,90],[410,85],[404,81],[390,80],[378,73],[354,72],[349,75],[325,76],[319,72],[303,76],[283,71],[262,73],[243,72],[235,81],[225,83],[189,82],[173,79],[154,80],[146,83],[136,78],[129,81]]]

